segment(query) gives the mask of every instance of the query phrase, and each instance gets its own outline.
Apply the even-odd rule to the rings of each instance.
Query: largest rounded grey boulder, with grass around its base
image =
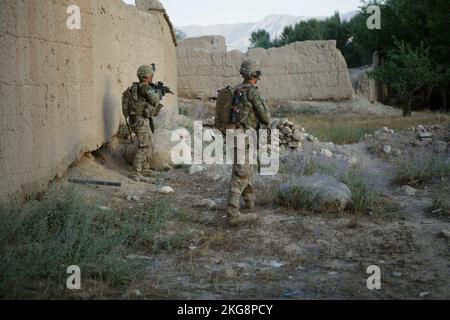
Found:
[[[300,191],[300,193],[299,193]],[[280,186],[280,197],[286,203],[302,205],[305,191],[314,210],[342,211],[352,200],[352,192],[336,178],[325,175],[295,177]]]

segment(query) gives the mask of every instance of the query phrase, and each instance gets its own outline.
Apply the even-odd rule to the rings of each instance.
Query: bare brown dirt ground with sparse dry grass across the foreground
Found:
[[[255,212],[260,219],[240,228],[228,226],[225,219],[230,167],[205,166],[195,174],[178,168],[159,173],[157,185],[150,185],[127,178],[129,167],[117,150],[104,148],[83,158],[56,183],[67,185],[69,177],[121,181],[121,188],[77,188],[87,202],[112,212],[133,214],[163,197],[180,213],[155,245],[130,252],[129,258],[148,264],[139,281],[113,291],[93,287],[83,298],[449,299],[449,239],[440,234],[450,229],[450,219],[430,213],[437,184],[448,185],[449,180],[422,185],[415,196],[407,196],[392,183],[397,159],[369,152],[370,145],[366,140],[330,148],[335,157],[358,158],[387,204],[382,211],[355,218],[349,212],[284,208],[271,201],[274,195],[267,190],[275,191],[267,187],[268,180],[257,178]],[[323,146],[306,144],[283,158],[299,164]],[[161,186],[175,192],[159,195]],[[205,199],[216,206],[208,207]],[[380,290],[367,288],[371,265],[381,268]]]

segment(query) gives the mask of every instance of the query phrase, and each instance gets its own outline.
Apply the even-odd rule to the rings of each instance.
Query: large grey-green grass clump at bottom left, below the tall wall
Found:
[[[82,281],[109,288],[130,283],[143,262],[127,260],[131,246],[152,243],[171,213],[162,200],[135,216],[102,211],[75,189],[52,190],[27,212],[0,214],[0,298],[61,297],[67,267]]]

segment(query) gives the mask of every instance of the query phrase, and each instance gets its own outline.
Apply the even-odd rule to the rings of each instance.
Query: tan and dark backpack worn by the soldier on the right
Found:
[[[216,101],[216,129],[225,134],[227,129],[237,129],[241,120],[239,108],[245,92],[226,87],[218,91]]]

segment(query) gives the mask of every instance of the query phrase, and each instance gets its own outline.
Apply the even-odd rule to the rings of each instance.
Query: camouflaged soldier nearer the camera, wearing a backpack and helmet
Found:
[[[243,130],[268,128],[270,113],[265,99],[261,96],[258,87],[256,87],[256,83],[261,76],[257,63],[252,60],[245,61],[242,63],[240,74],[244,78],[244,82],[233,89],[234,92],[239,92],[240,95],[238,102],[240,115],[237,127]],[[246,149],[248,147],[247,143]],[[253,177],[253,165],[238,164],[235,157],[227,209],[228,222],[232,226],[253,222],[257,219],[255,214],[240,213],[241,196],[245,201],[245,209],[252,210],[255,207]]]

